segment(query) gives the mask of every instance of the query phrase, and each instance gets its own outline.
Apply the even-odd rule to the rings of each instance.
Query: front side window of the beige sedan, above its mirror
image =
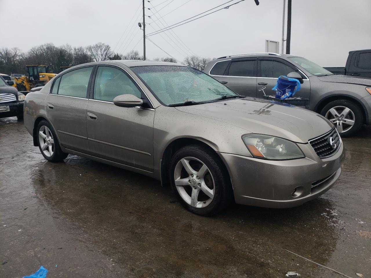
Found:
[[[141,98],[141,91],[130,77],[115,67],[98,67],[93,99],[112,102],[116,96],[130,94]]]

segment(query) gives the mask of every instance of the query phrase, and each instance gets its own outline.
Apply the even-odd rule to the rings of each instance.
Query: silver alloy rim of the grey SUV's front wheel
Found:
[[[325,117],[336,126],[339,133],[347,132],[355,123],[353,111],[345,106],[332,107],[326,112]]]

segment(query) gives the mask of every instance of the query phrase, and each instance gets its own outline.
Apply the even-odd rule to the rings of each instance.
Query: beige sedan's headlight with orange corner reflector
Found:
[[[298,145],[279,137],[246,134],[242,140],[255,158],[287,160],[305,157]]]

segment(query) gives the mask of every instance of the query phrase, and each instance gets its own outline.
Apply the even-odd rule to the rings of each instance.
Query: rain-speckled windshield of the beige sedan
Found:
[[[238,96],[209,75],[191,67],[138,66],[131,69],[165,105]]]

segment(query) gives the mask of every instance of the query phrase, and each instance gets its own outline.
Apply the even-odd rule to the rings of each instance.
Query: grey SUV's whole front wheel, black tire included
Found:
[[[345,113],[343,114],[343,112]],[[345,99],[334,100],[328,103],[321,110],[321,115],[334,123],[341,137],[353,135],[363,124],[361,109],[354,102]]]

